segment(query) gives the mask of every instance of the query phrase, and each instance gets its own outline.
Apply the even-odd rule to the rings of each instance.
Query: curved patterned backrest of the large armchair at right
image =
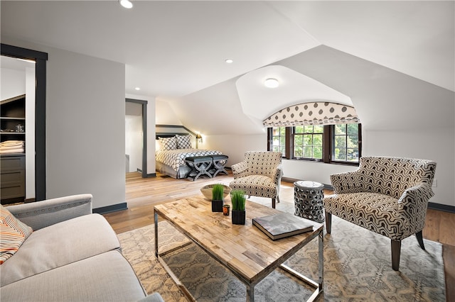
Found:
[[[432,187],[436,162],[401,157],[360,158],[358,180],[370,192],[400,198],[406,189],[426,183]]]

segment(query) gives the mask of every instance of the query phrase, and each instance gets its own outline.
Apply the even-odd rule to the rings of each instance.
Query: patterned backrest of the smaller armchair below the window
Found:
[[[245,160],[249,174],[274,177],[277,167],[282,163],[282,152],[249,151]]]

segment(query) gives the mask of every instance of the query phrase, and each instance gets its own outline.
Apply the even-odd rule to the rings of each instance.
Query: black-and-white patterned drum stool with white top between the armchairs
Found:
[[[323,184],[316,181],[294,182],[294,215],[322,223],[324,221],[323,189]]]

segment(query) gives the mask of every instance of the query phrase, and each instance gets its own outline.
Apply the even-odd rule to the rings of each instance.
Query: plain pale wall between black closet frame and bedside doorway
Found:
[[[125,67],[45,45],[46,197],[90,193],[93,208],[125,202]]]

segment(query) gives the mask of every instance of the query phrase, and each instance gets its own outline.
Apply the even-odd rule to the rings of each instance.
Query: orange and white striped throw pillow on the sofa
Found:
[[[0,206],[0,264],[14,255],[33,230]]]

